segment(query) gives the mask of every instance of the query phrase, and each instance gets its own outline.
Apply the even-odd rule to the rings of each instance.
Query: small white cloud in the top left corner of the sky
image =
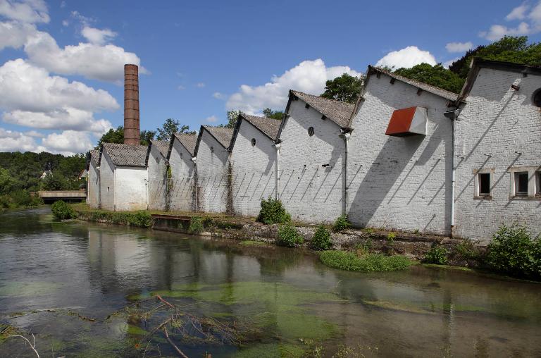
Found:
[[[49,23],[49,13],[43,0],[0,0],[0,16],[22,23]]]

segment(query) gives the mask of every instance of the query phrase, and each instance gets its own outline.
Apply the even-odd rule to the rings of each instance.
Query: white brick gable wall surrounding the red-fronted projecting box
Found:
[[[449,234],[452,124],[447,100],[371,75],[349,141],[349,220],[356,226]],[[385,135],[392,112],[428,109],[426,136]]]

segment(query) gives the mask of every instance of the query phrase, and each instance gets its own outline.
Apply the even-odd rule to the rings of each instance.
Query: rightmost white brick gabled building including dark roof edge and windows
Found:
[[[541,68],[475,59],[456,118],[455,234],[541,233]]]

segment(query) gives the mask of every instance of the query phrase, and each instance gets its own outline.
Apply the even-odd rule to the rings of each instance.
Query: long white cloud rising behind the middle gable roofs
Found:
[[[246,113],[258,113],[267,107],[283,109],[287,104],[289,90],[321,94],[325,90],[325,82],[342,73],[361,76],[361,73],[348,66],[326,67],[321,58],[302,61],[280,76],[273,75],[270,82],[264,85],[241,85],[239,92],[232,94],[225,106],[227,109],[240,109]]]

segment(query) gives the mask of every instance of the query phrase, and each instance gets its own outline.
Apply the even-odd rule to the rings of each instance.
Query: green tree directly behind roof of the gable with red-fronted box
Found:
[[[460,78],[441,64],[432,66],[428,63],[420,63],[412,68],[399,68],[394,73],[454,93],[459,93],[464,85],[464,78]]]

